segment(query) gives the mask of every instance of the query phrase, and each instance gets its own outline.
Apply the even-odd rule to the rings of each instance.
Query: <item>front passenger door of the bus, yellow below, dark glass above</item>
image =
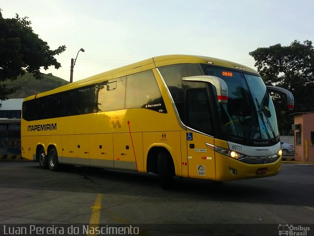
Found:
[[[205,144],[214,142],[213,137],[209,136],[212,130],[210,114],[207,89],[187,89],[187,164],[188,175],[192,178],[215,179],[214,150]]]

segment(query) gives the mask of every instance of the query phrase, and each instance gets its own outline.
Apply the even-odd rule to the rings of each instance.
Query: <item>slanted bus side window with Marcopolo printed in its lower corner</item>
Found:
[[[152,70],[127,76],[126,108],[147,108],[166,113]]]

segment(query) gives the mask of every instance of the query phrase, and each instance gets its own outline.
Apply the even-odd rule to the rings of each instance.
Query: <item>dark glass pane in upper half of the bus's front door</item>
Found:
[[[186,90],[187,126],[211,134],[209,96],[207,89]]]

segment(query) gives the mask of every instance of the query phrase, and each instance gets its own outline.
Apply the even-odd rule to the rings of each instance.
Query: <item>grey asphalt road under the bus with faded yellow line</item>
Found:
[[[209,226],[220,235],[229,224],[242,233],[243,224],[270,231],[264,224],[273,224],[270,233],[278,235],[279,224],[313,222],[314,165],[284,163],[278,176],[221,184],[176,177],[163,190],[154,174],[0,162],[1,224],[140,224],[140,235],[211,235]],[[235,233],[228,232],[221,235]]]

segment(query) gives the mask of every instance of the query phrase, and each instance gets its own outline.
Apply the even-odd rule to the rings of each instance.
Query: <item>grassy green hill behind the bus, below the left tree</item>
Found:
[[[5,84],[8,88],[18,86],[21,87],[20,90],[11,94],[9,98],[25,98],[27,96],[55,89],[69,83],[66,80],[53,76],[51,73],[43,74],[43,77],[44,78],[41,80],[36,80],[32,74],[26,72],[24,76],[20,76],[16,80],[7,80]]]

